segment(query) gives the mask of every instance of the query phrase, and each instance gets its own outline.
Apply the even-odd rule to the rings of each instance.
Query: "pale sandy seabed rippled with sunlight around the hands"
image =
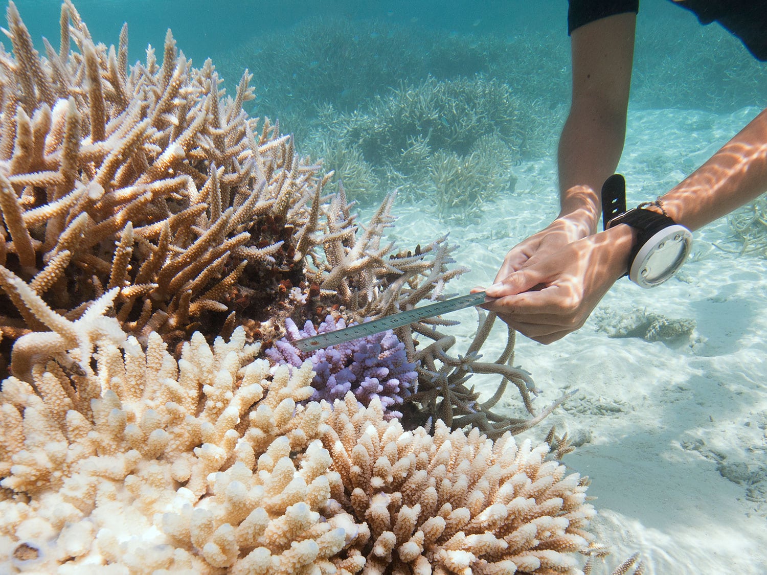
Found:
[[[628,204],[669,189],[758,112],[631,113],[619,166],[627,176]],[[548,223],[557,208],[551,161],[524,163],[513,172],[515,192],[487,205],[479,222],[440,223],[424,217],[423,206],[398,205],[394,237],[413,247],[449,228],[461,246],[458,263],[472,268],[452,291],[488,285],[505,251]],[[519,338],[516,347],[515,363],[543,389],[539,408],[563,390],[579,389],[528,435],[540,440],[556,423],[586,440],[565,463],[591,478],[589,493],[599,511],[594,530],[614,551],[605,573],[636,551],[647,573],[767,573],[767,260],[712,247],[729,238],[726,218],[695,238],[697,256],[677,278],[655,290],[623,279],[578,332],[549,346]],[[671,319],[693,318],[696,332],[667,344],[610,338],[597,329],[600,314],[645,308]],[[454,350],[462,353],[476,314],[451,317],[462,320],[451,331],[463,336]],[[499,352],[501,340],[489,341],[486,357]],[[486,393],[496,383],[476,378]],[[517,410],[515,391],[502,403],[499,411]]]

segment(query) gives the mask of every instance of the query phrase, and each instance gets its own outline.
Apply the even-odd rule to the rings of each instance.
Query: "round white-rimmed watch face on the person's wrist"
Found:
[[[682,267],[692,245],[693,235],[683,225],[663,228],[640,248],[629,278],[643,288],[662,284]]]

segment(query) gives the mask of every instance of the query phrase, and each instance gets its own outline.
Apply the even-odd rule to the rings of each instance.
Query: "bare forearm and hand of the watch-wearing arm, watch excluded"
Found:
[[[765,190],[767,110],[663,195],[660,203],[674,221],[694,230]],[[485,307],[536,341],[558,340],[581,327],[626,272],[635,240],[632,228],[617,225],[575,241],[493,284],[487,294],[499,299]]]

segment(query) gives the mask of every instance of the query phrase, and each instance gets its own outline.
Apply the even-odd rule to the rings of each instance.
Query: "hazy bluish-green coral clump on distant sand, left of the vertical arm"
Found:
[[[363,190],[396,186],[408,199],[433,201],[440,217],[455,217],[512,187],[509,169],[523,138],[517,115],[507,84],[430,76],[360,102],[353,113],[322,107],[324,130],[304,145],[351,176],[344,179],[351,197],[365,200]]]

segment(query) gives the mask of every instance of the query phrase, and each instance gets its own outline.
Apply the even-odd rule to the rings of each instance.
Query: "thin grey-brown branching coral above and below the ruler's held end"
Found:
[[[446,237],[433,241],[425,248],[416,245],[414,253],[407,251],[395,255],[391,244],[382,248],[380,239],[384,228],[393,220],[390,215],[392,202],[393,195],[389,195],[364,228],[364,233],[357,236],[351,231],[354,216],[341,186],[325,211],[328,220],[324,228],[326,234],[318,235],[318,239],[314,240],[323,243],[327,256],[322,261],[312,255],[314,264],[320,268],[316,277],[324,278],[320,287],[334,288],[342,297],[346,313],[351,312],[350,319],[354,321],[406,311],[426,299],[441,299],[445,297],[446,282],[466,271],[466,268],[449,268],[453,263],[450,253],[454,247],[447,244]],[[433,258],[427,259],[429,255]],[[326,273],[322,275],[322,271]],[[540,422],[567,399],[564,396],[542,412],[535,412],[530,397],[530,392],[535,391],[532,380],[522,370],[508,365],[513,360],[513,330],[509,330],[508,345],[498,360],[479,361],[479,350],[489,335],[494,319],[495,315],[490,314],[480,322],[476,339],[469,350],[458,358],[449,357],[447,353],[456,343],[455,338],[437,330],[439,326],[454,325],[454,321],[435,317],[397,330],[397,337],[407,349],[408,361],[421,364],[417,392],[409,396],[403,406],[409,425],[413,422],[416,425],[425,424],[429,417],[433,417],[443,419],[453,429],[471,425],[479,426],[482,432],[492,436],[507,430],[518,433]],[[413,332],[435,341],[416,351]],[[479,393],[473,387],[469,389],[464,385],[473,373],[497,373],[502,376],[497,392],[485,403],[478,401]],[[525,409],[532,418],[509,418],[491,411],[509,381],[518,388]]]

